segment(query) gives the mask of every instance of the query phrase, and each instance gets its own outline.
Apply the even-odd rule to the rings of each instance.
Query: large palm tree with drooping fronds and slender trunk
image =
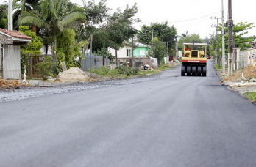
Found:
[[[80,7],[73,7],[68,10],[67,0],[43,0],[41,1],[41,11],[31,10],[21,12],[19,25],[32,23],[41,29],[51,31],[54,39],[54,58],[56,56],[57,35],[63,31],[65,26],[85,18],[85,11]]]

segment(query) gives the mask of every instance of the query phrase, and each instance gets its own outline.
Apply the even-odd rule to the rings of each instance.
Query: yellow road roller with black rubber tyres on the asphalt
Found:
[[[184,43],[181,75],[206,76],[207,43]]]

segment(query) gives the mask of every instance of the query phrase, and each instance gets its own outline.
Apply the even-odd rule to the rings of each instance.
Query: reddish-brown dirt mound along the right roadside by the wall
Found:
[[[242,73],[244,78],[242,78]],[[235,73],[233,73],[228,77],[223,78],[222,81],[223,82],[226,82],[226,81],[239,82],[239,81],[250,80],[252,78],[256,78],[256,66],[250,65],[248,67],[244,67],[243,69],[236,71]]]

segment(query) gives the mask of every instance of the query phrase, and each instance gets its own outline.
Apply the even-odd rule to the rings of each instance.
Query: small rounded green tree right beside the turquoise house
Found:
[[[148,56],[157,58],[158,65],[162,64],[164,56],[167,55],[166,43],[154,37],[149,42],[150,49],[147,53]]]

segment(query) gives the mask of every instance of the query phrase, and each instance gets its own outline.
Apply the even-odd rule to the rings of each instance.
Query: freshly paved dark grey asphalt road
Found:
[[[207,77],[0,103],[0,166],[256,166],[256,105]]]

